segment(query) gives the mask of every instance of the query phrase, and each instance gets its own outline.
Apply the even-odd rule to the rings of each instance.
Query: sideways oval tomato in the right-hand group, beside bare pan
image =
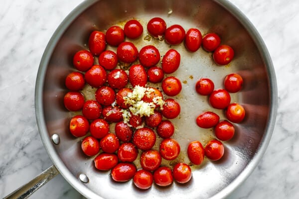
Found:
[[[206,111],[196,118],[196,123],[201,128],[212,128],[219,122],[219,115],[214,112]]]

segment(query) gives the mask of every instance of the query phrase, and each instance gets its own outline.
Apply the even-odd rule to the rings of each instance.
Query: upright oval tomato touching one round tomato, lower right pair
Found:
[[[200,165],[204,159],[204,148],[199,141],[192,141],[187,148],[188,158],[194,165]]]

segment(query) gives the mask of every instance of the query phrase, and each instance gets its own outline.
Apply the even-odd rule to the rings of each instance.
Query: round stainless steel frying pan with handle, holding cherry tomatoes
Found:
[[[147,21],[156,16],[162,17],[167,26],[180,24],[185,30],[196,27],[202,34],[216,32],[223,44],[235,50],[234,60],[227,66],[217,66],[212,54],[201,48],[191,53],[183,44],[169,46],[164,41],[145,39],[148,38]],[[63,96],[67,92],[65,77],[75,70],[73,55],[78,50],[88,49],[87,39],[93,30],[105,31],[115,24],[123,27],[132,18],[144,26],[141,38],[130,40],[138,49],[152,44],[161,55],[169,48],[181,54],[180,67],[171,74],[184,83],[182,92],[174,97],[181,105],[181,113],[172,120],[175,125],[173,138],[181,146],[180,161],[189,163],[186,146],[190,141],[200,140],[205,145],[215,137],[213,129],[196,126],[198,114],[210,110],[225,119],[223,110],[213,109],[207,97],[196,95],[196,81],[210,78],[217,89],[223,88],[227,74],[235,72],[244,79],[242,91],[231,97],[232,101],[245,107],[246,117],[242,123],[234,124],[234,138],[224,142],[224,157],[216,162],[205,158],[200,166],[191,166],[192,179],[185,185],[173,183],[166,188],[153,185],[147,191],[140,191],[132,181],[115,183],[109,172],[95,169],[94,157],[83,154],[80,149],[82,138],[74,138],[68,132],[70,118],[78,114],[67,111],[63,105]],[[94,98],[92,88],[85,88],[82,92],[86,99]],[[227,0],[86,0],[64,19],[45,49],[36,80],[35,111],[39,132],[53,165],[6,198],[26,198],[60,173],[89,199],[220,199],[227,197],[250,175],[264,154],[275,125],[277,85],[262,38],[249,20]],[[113,124],[111,132],[114,132]],[[154,149],[158,148],[160,141],[158,138]],[[138,161],[135,164],[140,168]],[[173,164],[173,161],[162,161],[162,165],[172,167]]]

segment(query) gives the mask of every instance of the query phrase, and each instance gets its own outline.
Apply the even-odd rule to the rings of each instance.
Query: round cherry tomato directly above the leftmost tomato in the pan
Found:
[[[84,76],[79,72],[72,72],[65,78],[65,86],[70,91],[79,91],[85,85]]]

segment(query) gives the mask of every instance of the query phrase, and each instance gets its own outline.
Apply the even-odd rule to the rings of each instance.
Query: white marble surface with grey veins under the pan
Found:
[[[82,0],[1,0],[0,198],[52,163],[34,113],[38,65],[51,35]],[[269,147],[230,199],[299,198],[299,1],[231,0],[256,26],[277,74],[279,107]],[[32,199],[82,199],[60,175]]]

